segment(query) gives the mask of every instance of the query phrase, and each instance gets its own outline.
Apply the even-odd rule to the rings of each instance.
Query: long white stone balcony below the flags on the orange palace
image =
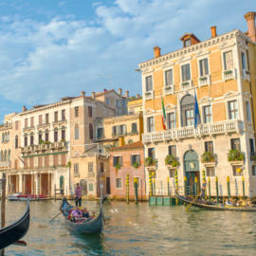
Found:
[[[157,143],[161,141],[184,139],[192,137],[204,137],[213,135],[225,135],[230,133],[240,133],[244,130],[244,122],[241,120],[221,121],[201,124],[196,129],[194,127],[181,127],[167,131],[144,134],[143,143]]]

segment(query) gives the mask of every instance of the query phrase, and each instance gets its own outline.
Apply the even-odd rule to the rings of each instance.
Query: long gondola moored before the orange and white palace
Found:
[[[236,211],[256,211],[256,207],[240,207],[240,206],[228,206],[217,203],[206,202],[199,199],[194,199],[188,196],[182,196],[175,193],[178,200],[183,203],[192,205],[194,207],[208,209],[208,210],[236,210]]]

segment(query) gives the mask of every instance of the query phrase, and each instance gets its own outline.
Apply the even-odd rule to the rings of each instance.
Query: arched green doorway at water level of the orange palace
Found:
[[[198,155],[190,150],[184,154],[184,171],[187,177],[186,192],[189,195],[197,195],[200,192],[200,173]],[[195,177],[197,178],[197,191],[195,186]]]

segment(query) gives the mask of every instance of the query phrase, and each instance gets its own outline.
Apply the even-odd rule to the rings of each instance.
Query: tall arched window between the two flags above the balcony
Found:
[[[181,125],[192,126],[194,122],[194,98],[192,95],[186,95],[180,101]]]

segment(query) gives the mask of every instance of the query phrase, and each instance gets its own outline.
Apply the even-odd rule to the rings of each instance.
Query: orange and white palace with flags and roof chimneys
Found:
[[[155,177],[155,190],[167,194],[167,177],[174,195],[177,170],[179,192],[196,193],[203,170],[216,195],[256,195],[255,12],[245,15],[246,33],[232,30],[204,42],[193,34],[183,48],[139,64],[142,78],[145,164]],[[194,119],[196,104],[201,120]],[[195,121],[198,120],[198,124]],[[149,187],[147,186],[147,192]]]

